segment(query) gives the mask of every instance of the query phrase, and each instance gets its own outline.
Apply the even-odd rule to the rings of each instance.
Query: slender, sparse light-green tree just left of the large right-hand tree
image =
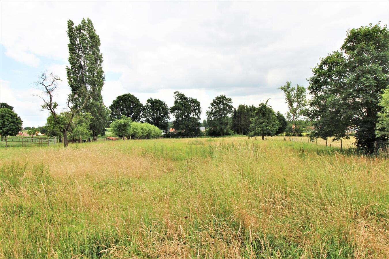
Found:
[[[307,97],[305,95],[305,87],[297,85],[292,87],[291,82],[286,81],[286,84],[279,89],[284,91],[285,101],[289,111],[286,113],[286,118],[291,121],[298,120],[305,109]]]

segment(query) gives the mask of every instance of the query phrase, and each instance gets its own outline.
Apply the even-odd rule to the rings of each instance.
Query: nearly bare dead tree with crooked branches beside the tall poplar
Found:
[[[65,108],[69,110],[68,116],[65,116],[61,113],[57,113],[56,109],[58,108],[58,103],[53,101],[53,96],[55,90],[58,89],[58,82],[61,81],[61,78],[56,75],[53,75],[53,73],[47,75],[46,72],[43,72],[42,75],[39,76],[36,85],[39,86],[40,89],[42,89],[42,94],[44,96],[42,97],[37,94],[33,94],[33,96],[38,96],[40,99],[42,99],[42,101],[44,102],[44,104],[42,105],[42,111],[50,111],[51,115],[54,118],[54,122],[57,124],[59,130],[63,134],[63,144],[65,147],[67,147],[68,130],[72,128],[74,116],[79,113],[80,110],[82,110],[82,108],[84,108],[84,106],[88,103],[89,94],[84,95],[85,98],[84,100],[82,100],[81,106],[77,108],[74,108],[73,103],[75,96],[73,94],[69,94]]]

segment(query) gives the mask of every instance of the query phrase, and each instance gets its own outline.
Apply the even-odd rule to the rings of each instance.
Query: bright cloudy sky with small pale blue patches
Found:
[[[43,71],[70,89],[67,21],[89,17],[100,36],[105,105],[131,93],[172,106],[173,92],[194,97],[201,119],[221,94],[238,104],[269,99],[286,113],[278,87],[308,87],[311,68],[339,50],[347,30],[389,24],[389,1],[0,1],[0,102],[23,127],[42,126],[47,111],[32,94]]]

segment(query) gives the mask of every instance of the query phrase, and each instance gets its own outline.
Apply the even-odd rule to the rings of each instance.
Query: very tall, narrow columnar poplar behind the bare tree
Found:
[[[108,121],[107,108],[101,95],[105,76],[102,68],[103,55],[100,52],[100,38],[89,18],[82,19],[77,26],[69,20],[68,38],[70,67],[67,66],[66,71],[74,97],[70,101],[78,108],[84,99],[88,99],[82,112],[91,113],[93,118],[89,129],[93,140],[96,140],[97,135],[104,134]]]

